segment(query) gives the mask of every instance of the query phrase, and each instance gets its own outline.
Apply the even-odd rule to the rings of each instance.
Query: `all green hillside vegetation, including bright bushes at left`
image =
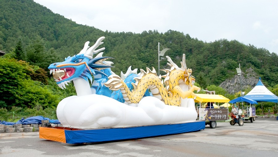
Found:
[[[48,79],[48,65],[79,53],[86,41],[93,44],[101,36],[106,37],[104,56],[114,58],[110,61],[114,62],[112,71],[116,74],[121,71],[125,73],[129,66],[144,70],[154,67],[158,72],[160,42],[165,48],[171,49],[166,55],[177,64],[182,54],[186,54],[187,67],[193,70],[193,76],[202,88],[218,88],[223,81],[236,75],[235,68],[239,64],[244,72],[253,69],[256,77],[261,77],[264,85],[272,91],[278,88],[278,56],[265,48],[226,39],[208,43],[175,30],[163,33],[146,30],[140,34],[102,31],[76,24],[32,0],[0,1],[0,50],[6,53],[0,58],[0,107],[57,106],[57,101],[72,95],[74,89],[69,88],[65,92],[53,87],[55,83]],[[166,63],[166,60],[160,61],[160,69],[169,68]],[[40,87],[36,89],[40,92],[33,86]],[[24,92],[17,91],[24,88],[27,88]],[[216,94],[230,99],[235,97],[235,93],[228,93],[225,89],[220,91]],[[34,98],[23,99],[28,93]]]

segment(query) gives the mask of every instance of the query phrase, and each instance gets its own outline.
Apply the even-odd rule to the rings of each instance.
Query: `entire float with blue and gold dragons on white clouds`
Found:
[[[63,143],[94,143],[200,131],[196,121],[195,78],[187,69],[185,54],[181,67],[166,56],[170,69],[158,76],[150,70],[128,68],[121,77],[111,70],[111,57],[103,57],[100,37],[93,46],[86,42],[76,55],[48,69],[61,89],[73,82],[77,95],[57,106],[61,125],[40,127],[40,138]],[[96,55],[94,57],[94,55]],[[94,80],[92,78],[94,76]],[[164,78],[164,79],[162,79]]]

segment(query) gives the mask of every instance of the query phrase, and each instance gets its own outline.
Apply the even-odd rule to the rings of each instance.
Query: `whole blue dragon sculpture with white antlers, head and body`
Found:
[[[88,92],[87,94],[105,95],[124,103],[125,101],[120,90],[112,91],[108,87],[103,86],[103,84],[107,82],[108,77],[114,74],[111,70],[113,62],[106,61],[106,59],[111,57],[103,57],[103,52],[100,52],[105,48],[103,47],[99,50],[95,50],[99,45],[103,44],[102,40],[104,38],[105,37],[99,38],[92,47],[88,46],[90,42],[86,42],[79,54],[65,58],[64,62],[53,63],[48,69],[50,70],[50,74],[53,74],[57,85],[61,89],[66,88],[65,85],[68,85],[71,81],[77,78],[83,78],[86,81],[90,80],[92,83],[92,93]],[[93,55],[97,53],[98,55],[93,58]],[[91,75],[94,75],[93,82]],[[131,83],[135,83],[134,78],[138,77],[137,69],[131,70],[130,66],[126,74],[121,72],[121,76],[130,90],[132,90],[133,86]],[[145,94],[145,96],[150,95],[150,92],[146,92]]]

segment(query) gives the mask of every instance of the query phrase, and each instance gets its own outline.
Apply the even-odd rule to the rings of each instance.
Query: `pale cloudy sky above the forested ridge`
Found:
[[[176,30],[204,42],[237,40],[278,54],[277,0],[34,0],[111,32]],[[88,39],[89,40],[89,39]],[[93,39],[90,39],[93,40]]]

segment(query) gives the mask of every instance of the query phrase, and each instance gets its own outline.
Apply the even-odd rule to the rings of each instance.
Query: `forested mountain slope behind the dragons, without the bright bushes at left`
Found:
[[[183,53],[186,54],[187,67],[193,70],[196,82],[203,88],[218,86],[234,77],[239,63],[244,72],[252,68],[266,87],[278,84],[277,54],[237,40],[216,39],[207,43],[175,30],[164,33],[146,30],[140,34],[102,31],[76,24],[32,0],[0,0],[0,8],[0,50],[18,52],[15,58],[22,52],[26,55],[16,59],[45,71],[50,63],[79,53],[86,41],[94,43],[104,36],[104,56],[115,58],[111,61],[115,66],[112,71],[116,74],[125,72],[129,66],[138,69],[153,66],[158,72],[160,42],[171,49],[166,55],[175,63],[181,61]],[[160,61],[160,69],[167,68],[166,62]]]

